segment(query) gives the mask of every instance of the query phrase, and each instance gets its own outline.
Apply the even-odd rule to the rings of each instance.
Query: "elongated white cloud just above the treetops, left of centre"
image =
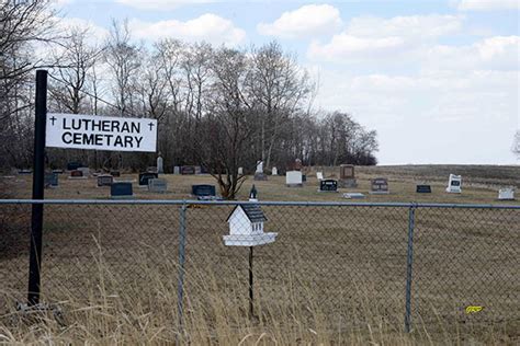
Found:
[[[213,44],[237,45],[246,38],[246,32],[231,21],[206,13],[190,21],[144,22],[133,19],[128,22],[133,35],[143,39],[174,37],[189,42],[205,41]]]

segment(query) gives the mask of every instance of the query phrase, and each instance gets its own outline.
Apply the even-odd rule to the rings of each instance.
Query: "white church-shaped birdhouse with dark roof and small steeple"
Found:
[[[249,201],[258,201],[255,185],[249,195]],[[264,233],[263,222],[268,219],[259,205],[238,205],[227,218],[229,235],[224,235],[227,246],[256,246],[274,242],[278,233]]]

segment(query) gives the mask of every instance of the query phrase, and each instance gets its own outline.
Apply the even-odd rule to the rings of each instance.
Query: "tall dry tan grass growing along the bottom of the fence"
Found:
[[[183,326],[179,328],[176,276],[165,276],[143,258],[136,264],[146,273],[146,285],[122,287],[125,278],[113,272],[102,253],[99,249],[92,258],[97,273],[83,286],[84,299],[78,300],[77,292],[61,289],[59,295],[44,297],[45,301],[56,301],[59,310],[32,313],[12,310],[0,319],[0,344],[513,345],[518,342],[509,336],[506,324],[478,325],[452,333],[446,332],[451,328],[442,320],[433,327],[430,325],[434,332],[417,321],[417,326],[406,334],[388,322],[392,316],[381,314],[380,307],[362,286],[350,292],[361,301],[358,309],[341,307],[330,315],[323,310],[319,296],[302,290],[301,284],[291,277],[284,280],[279,300],[256,301],[256,315],[251,318],[246,309],[247,299],[223,295],[221,278],[200,270],[188,277],[192,290],[186,296]],[[167,260],[163,265],[177,272],[174,262]],[[244,284],[233,276],[226,281],[229,287]],[[201,293],[204,299],[197,297]],[[61,299],[57,301],[54,296]],[[347,324],[346,316],[350,320]],[[402,315],[396,313],[394,318]]]

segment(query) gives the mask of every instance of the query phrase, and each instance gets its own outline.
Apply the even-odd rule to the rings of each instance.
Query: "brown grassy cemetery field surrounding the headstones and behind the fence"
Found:
[[[452,171],[453,170],[453,171]],[[329,175],[334,171],[325,170]],[[463,174],[463,194],[444,192],[445,172]],[[327,174],[326,174],[327,175]],[[498,204],[497,186],[516,185],[520,168],[358,168],[359,188],[386,176],[389,195],[361,201]],[[467,176],[467,178],[466,178]],[[186,199],[211,176],[167,175],[170,193],[138,199]],[[136,178],[125,175],[121,180]],[[415,193],[430,183],[431,195]],[[252,178],[240,193],[246,199]],[[347,201],[284,177],[255,182],[261,200]],[[30,176],[9,182],[29,198]],[[104,199],[95,180],[60,180],[46,198]],[[504,204],[504,203],[500,203]],[[519,201],[508,203],[519,205]],[[412,322],[403,332],[408,209],[265,206],[272,244],[255,249],[255,310],[248,316],[248,249],[226,247],[229,206],[186,211],[185,314],[182,339],[193,344],[515,344],[520,316],[520,211],[418,209],[414,245]],[[0,343],[171,343],[178,337],[178,206],[45,207],[43,293],[59,302],[65,327],[50,319],[30,326],[14,312],[26,286],[30,206],[0,206]],[[467,305],[484,310],[466,314]],[[48,318],[48,316],[47,316]],[[64,330],[65,328],[65,330]],[[2,339],[2,335],[7,335]]]

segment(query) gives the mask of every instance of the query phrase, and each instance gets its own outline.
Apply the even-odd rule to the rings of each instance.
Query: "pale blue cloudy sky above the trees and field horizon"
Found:
[[[518,0],[58,0],[68,24],[137,39],[279,41],[319,78],[315,106],[376,129],[381,164],[515,164]]]

